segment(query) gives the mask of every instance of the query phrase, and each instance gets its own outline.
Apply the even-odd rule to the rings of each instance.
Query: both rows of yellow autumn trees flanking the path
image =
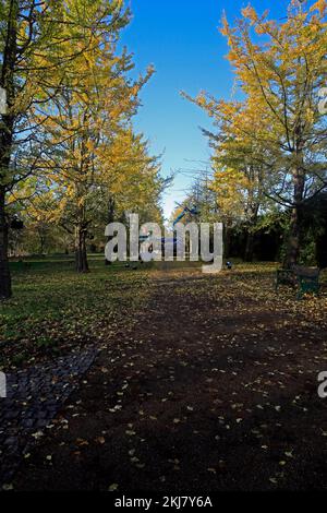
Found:
[[[223,16],[231,99],[184,94],[214,128],[211,176],[182,207],[223,223],[227,256],[265,256],[270,232],[266,256],[284,267],[327,262],[326,7]],[[169,180],[132,122],[154,70],[131,77],[120,45],[130,19],[123,0],[0,0],[0,298],[11,297],[11,255],[74,251],[85,273],[107,223],[132,211],[162,222]]]

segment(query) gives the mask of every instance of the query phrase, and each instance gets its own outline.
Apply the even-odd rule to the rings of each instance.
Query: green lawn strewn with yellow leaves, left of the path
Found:
[[[0,305],[0,368],[76,350],[108,337],[118,317],[129,320],[146,296],[148,264],[106,267],[101,255],[89,255],[89,264],[81,275],[60,255],[11,263],[13,298]]]

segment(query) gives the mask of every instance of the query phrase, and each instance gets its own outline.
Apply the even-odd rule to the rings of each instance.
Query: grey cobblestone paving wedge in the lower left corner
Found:
[[[56,417],[97,354],[90,348],[7,375],[7,397],[0,398],[0,490],[35,443],[35,433]]]

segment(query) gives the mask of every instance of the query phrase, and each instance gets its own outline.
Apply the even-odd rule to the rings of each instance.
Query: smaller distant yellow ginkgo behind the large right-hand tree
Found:
[[[256,127],[256,139],[249,138],[246,133],[232,124],[231,108],[233,115],[244,107],[241,103],[220,110],[219,133],[209,134],[214,148],[213,167],[215,177],[213,189],[217,194],[217,207],[222,220],[228,225],[241,223],[246,230],[244,260],[253,260],[254,234],[258,227],[259,216],[270,206],[270,201],[265,192],[271,189],[272,180],[277,180],[275,174],[267,174],[265,159],[265,146],[259,142],[261,123],[256,116],[247,111],[247,122],[252,131]],[[270,167],[274,160],[270,158]]]

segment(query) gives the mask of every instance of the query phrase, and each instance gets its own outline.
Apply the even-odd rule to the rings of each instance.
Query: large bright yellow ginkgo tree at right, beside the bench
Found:
[[[217,123],[223,121],[220,136],[252,147],[251,159],[267,175],[265,194],[290,210],[286,266],[300,255],[304,202],[327,186],[326,118],[318,108],[326,81],[326,5],[292,0],[281,22],[251,5],[233,27],[223,17],[228,59],[245,99],[241,106],[205,93],[195,99]]]

